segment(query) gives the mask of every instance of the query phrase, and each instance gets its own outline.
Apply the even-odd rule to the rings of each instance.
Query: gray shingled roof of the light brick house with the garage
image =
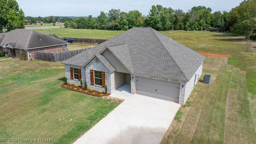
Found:
[[[148,27],[134,27],[64,64],[81,66],[108,47],[132,73],[190,80],[205,56]]]

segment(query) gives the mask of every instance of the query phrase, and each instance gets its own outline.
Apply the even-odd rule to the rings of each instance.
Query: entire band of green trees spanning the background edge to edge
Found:
[[[64,22],[65,28],[85,28],[100,30],[128,30],[132,27],[147,26],[155,30],[208,30],[225,29],[234,34],[250,37],[256,30],[256,0],[244,0],[229,12],[217,11],[212,13],[211,8],[194,6],[191,10],[174,10],[171,7],[153,5],[148,15],[142,16],[138,10],[121,12],[120,9],[111,9],[107,13],[93,18],[70,18],[48,16],[37,18],[24,16],[16,0],[0,0],[0,32],[3,28],[7,31],[15,28],[24,28],[24,23]]]

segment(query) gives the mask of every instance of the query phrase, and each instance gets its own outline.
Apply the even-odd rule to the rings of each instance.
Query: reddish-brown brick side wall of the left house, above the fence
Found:
[[[66,52],[66,51],[68,51],[68,48],[67,48],[67,45],[65,44],[65,50],[62,50],[62,45],[60,45],[60,46],[51,46],[51,47],[46,47],[46,48],[31,49],[31,50],[28,50],[28,52],[31,54],[31,56],[29,57],[30,60],[35,59],[35,51],[37,51],[37,52],[57,53],[57,52]]]

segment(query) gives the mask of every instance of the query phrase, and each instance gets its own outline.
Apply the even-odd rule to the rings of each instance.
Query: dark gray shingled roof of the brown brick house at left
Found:
[[[0,42],[0,46],[4,46],[8,43],[12,48],[20,49],[33,49],[69,44],[68,42],[55,38],[54,36],[27,29],[16,29],[6,32]]]

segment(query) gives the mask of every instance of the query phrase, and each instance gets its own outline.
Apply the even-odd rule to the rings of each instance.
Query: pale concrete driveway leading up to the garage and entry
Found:
[[[116,90],[124,102],[74,144],[159,144],[180,104]]]

